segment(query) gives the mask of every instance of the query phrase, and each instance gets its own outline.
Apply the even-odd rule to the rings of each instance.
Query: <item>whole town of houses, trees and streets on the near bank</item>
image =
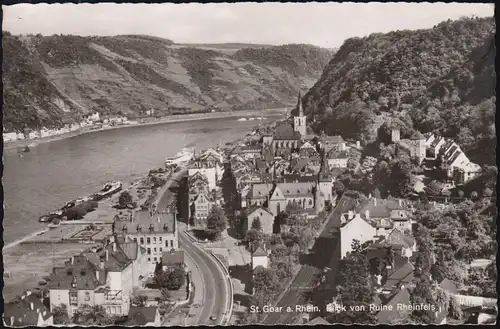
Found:
[[[299,93],[284,120],[167,162],[148,207],[125,202],[4,323],[494,323],[488,168],[396,121],[373,151],[308,120]]]

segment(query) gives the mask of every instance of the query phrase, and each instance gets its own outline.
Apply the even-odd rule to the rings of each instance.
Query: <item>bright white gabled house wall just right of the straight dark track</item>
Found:
[[[373,239],[376,229],[361,215],[349,211],[340,218],[340,257],[345,258],[352,251],[352,242],[360,243]]]

